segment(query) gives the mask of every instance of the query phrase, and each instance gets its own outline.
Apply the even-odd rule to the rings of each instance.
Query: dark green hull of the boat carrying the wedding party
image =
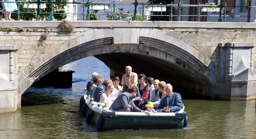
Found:
[[[88,106],[86,113],[92,109]],[[97,125],[98,118],[103,115],[102,130],[125,129],[182,129],[185,116],[125,116],[115,112],[97,112],[93,110],[92,122]]]

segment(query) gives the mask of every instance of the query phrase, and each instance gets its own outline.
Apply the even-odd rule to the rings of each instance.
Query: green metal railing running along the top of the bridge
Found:
[[[134,6],[134,15],[133,15],[133,20],[137,20],[137,7],[138,6],[142,6],[143,7],[143,11],[142,11],[142,16],[143,16],[143,21],[145,20],[145,16],[147,17],[151,17],[151,16],[165,16],[165,17],[169,17],[170,18],[170,21],[173,21],[173,17],[177,17],[177,21],[180,21],[181,20],[181,17],[185,17],[185,16],[188,16],[188,17],[197,17],[198,18],[198,21],[200,21],[200,17],[202,16],[219,16],[218,18],[218,22],[222,22],[222,18],[224,19],[224,22],[226,21],[226,17],[228,17],[228,15],[226,14],[227,11],[227,7],[246,7],[246,8],[255,8],[255,6],[227,6],[227,4],[225,3],[223,5],[223,0],[220,1],[220,5],[200,5],[200,3],[198,3],[198,5],[191,5],[191,4],[182,4],[181,3],[181,0],[179,0],[179,3],[178,4],[173,4],[173,3],[170,3],[170,4],[153,4],[153,3],[138,3],[137,0],[135,0],[134,3],[115,3],[114,2],[111,2],[111,3],[96,3],[96,2],[91,2],[90,0],[83,0],[83,2],[54,2],[53,0],[51,0],[51,2],[48,2],[48,1],[41,1],[41,0],[37,0],[37,1],[20,1],[20,0],[17,0],[17,1],[0,1],[0,3],[17,3],[17,12],[12,12],[12,13],[16,13],[17,14],[17,20],[20,20],[20,14],[37,14],[36,16],[36,20],[39,21],[40,20],[40,14],[51,14],[51,20],[54,20],[53,18],[53,15],[54,14],[79,14],[79,15],[83,15],[83,20],[87,20],[87,21],[90,21],[90,15],[100,15],[98,13],[93,13],[91,12],[90,10],[90,7],[92,7],[92,5],[105,5],[107,6],[107,4],[111,4],[113,5],[113,11],[115,13],[116,11],[116,5],[130,5],[130,6]],[[36,3],[37,4],[37,12],[29,12],[29,7],[27,8],[27,11],[26,12],[20,12],[20,4],[33,4],[33,3]],[[51,12],[41,12],[41,4],[42,3],[49,3],[51,4]],[[54,4],[82,4],[82,8],[83,8],[83,13],[54,13],[54,10],[53,10],[53,5]],[[145,15],[144,14],[144,11],[145,11],[145,7],[152,7],[152,11],[150,12],[149,15]],[[153,7],[161,7],[161,13],[160,14],[154,14],[153,12]],[[87,7],[87,14],[86,14],[86,7]],[[168,14],[163,14],[163,7],[170,7],[170,12],[168,12]],[[197,15],[181,15],[181,9],[182,7],[196,7],[197,8],[197,12],[198,13]],[[215,15],[208,15],[208,11],[207,12],[207,15],[200,15],[200,13],[202,12],[201,9],[203,7],[207,7],[208,8],[214,8],[216,9],[216,13],[217,13],[217,8],[220,8],[220,11],[219,11],[219,15],[217,15],[215,13]],[[177,10],[177,14],[174,15],[173,13],[173,9],[176,9]],[[105,12],[105,9],[103,10]],[[222,12],[224,14],[222,14]],[[236,16],[237,17],[237,16]],[[250,17],[250,16],[239,16],[239,17]]]

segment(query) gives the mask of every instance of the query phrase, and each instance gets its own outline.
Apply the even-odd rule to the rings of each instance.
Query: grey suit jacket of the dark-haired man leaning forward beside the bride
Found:
[[[139,93],[140,94],[140,93]],[[110,106],[111,109],[122,109],[122,108],[132,108],[134,109],[135,112],[140,112],[141,109],[135,106],[134,102],[132,101],[132,98],[128,92],[124,92],[120,94],[115,101],[112,103]]]

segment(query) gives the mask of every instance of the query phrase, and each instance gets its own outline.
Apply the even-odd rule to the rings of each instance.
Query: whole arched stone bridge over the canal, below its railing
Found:
[[[131,65],[170,82],[174,92],[256,97],[255,23],[73,21],[72,33],[61,32],[59,23],[0,22],[0,112],[19,108],[23,92],[47,73],[90,56],[103,61],[111,77],[122,77]]]

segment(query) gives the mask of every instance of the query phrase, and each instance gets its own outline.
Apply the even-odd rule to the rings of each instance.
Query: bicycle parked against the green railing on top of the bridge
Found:
[[[105,18],[101,18],[102,20],[121,20],[121,21],[132,21],[132,15],[130,14],[130,11],[124,11],[124,8],[118,8],[120,10],[119,16],[116,16],[116,14],[112,11],[110,4],[108,4],[109,11],[105,11],[105,13],[100,14],[100,17],[102,15],[106,15]]]

